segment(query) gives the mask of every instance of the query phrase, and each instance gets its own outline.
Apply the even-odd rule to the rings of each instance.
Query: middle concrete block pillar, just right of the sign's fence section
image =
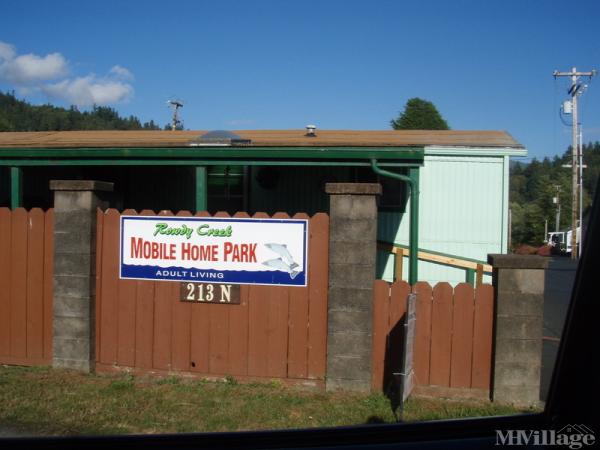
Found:
[[[371,389],[377,195],[381,185],[328,183],[327,390]]]

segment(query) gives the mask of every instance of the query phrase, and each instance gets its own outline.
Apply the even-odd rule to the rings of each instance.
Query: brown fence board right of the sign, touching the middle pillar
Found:
[[[309,226],[308,377],[322,379],[327,366],[329,216],[317,213]]]

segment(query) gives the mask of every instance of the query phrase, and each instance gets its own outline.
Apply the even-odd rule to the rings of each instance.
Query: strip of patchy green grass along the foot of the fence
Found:
[[[404,420],[516,414],[489,402],[410,399]],[[86,375],[0,366],[0,425],[37,435],[239,431],[395,422],[383,394],[315,392],[282,383]]]

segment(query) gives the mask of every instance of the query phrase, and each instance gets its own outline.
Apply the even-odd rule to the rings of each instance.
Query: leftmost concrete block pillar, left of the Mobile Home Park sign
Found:
[[[113,183],[50,181],[54,191],[54,367],[94,370],[96,209]]]

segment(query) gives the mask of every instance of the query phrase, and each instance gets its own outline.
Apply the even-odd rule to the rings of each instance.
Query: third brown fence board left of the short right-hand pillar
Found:
[[[433,288],[431,304],[431,368],[429,383],[450,385],[452,342],[452,286],[438,283]]]

